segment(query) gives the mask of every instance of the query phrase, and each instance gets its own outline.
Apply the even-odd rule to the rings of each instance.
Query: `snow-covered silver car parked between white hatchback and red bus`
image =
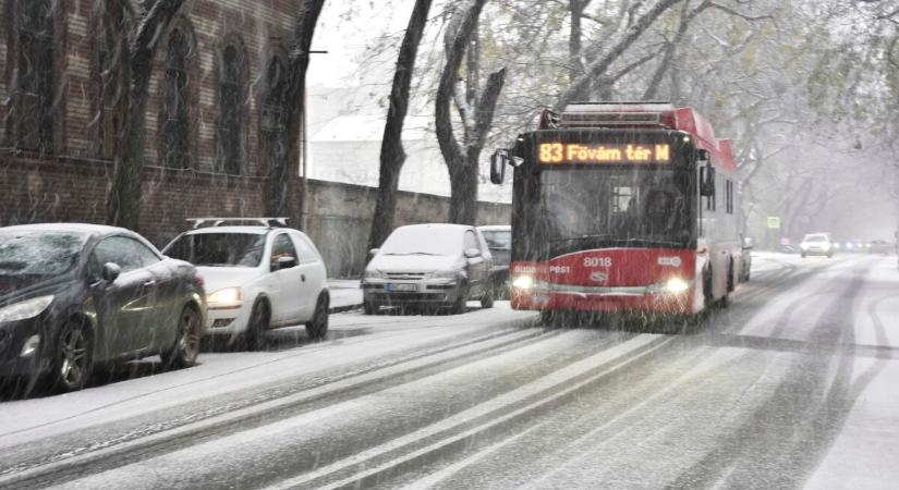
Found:
[[[494,305],[489,287],[493,256],[474,226],[400,226],[372,252],[362,281],[367,315],[381,306],[442,307],[459,314],[469,299],[479,299],[484,308]]]

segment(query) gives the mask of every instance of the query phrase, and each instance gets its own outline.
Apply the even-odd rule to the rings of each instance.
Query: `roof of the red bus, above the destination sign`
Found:
[[[579,128],[668,128],[693,135],[696,147],[708,150],[716,167],[736,172],[733,143],[718,138],[712,124],[693,108],[670,102],[572,102],[560,114],[544,110],[538,130]]]

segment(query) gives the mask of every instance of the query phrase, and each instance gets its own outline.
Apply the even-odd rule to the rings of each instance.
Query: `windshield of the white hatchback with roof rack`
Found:
[[[263,260],[265,236],[259,233],[184,234],[163,254],[195,266],[257,267]]]

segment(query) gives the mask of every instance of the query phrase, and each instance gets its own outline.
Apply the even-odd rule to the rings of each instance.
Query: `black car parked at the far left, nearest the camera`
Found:
[[[90,224],[0,228],[0,378],[84,388],[98,363],[196,362],[206,299],[194,266]]]

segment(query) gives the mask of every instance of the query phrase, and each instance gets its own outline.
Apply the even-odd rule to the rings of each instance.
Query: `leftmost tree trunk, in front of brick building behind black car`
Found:
[[[141,221],[141,181],[144,170],[144,121],[147,85],[153,57],[169,23],[184,0],[157,0],[134,19],[127,58],[129,108],[124,121],[124,140],[116,156],[112,188],[107,201],[107,221],[116,226],[136,230]]]

